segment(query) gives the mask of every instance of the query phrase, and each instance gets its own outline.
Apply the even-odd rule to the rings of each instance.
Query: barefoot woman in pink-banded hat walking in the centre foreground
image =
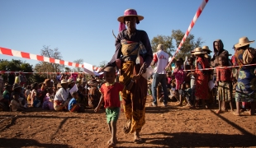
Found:
[[[120,32],[116,37],[116,53],[107,67],[118,67],[120,71],[119,81],[127,86],[131,77],[141,75],[149,67],[153,53],[149,37],[144,30],[137,30],[136,24],[144,19],[137,15],[134,9],[127,9],[124,16],[118,17]],[[127,30],[126,30],[126,26]],[[125,133],[135,133],[135,143],[142,142],[140,138],[141,128],[145,125],[145,100],[147,97],[147,80],[140,76],[130,91],[121,93],[124,102],[124,111],[127,123]]]

